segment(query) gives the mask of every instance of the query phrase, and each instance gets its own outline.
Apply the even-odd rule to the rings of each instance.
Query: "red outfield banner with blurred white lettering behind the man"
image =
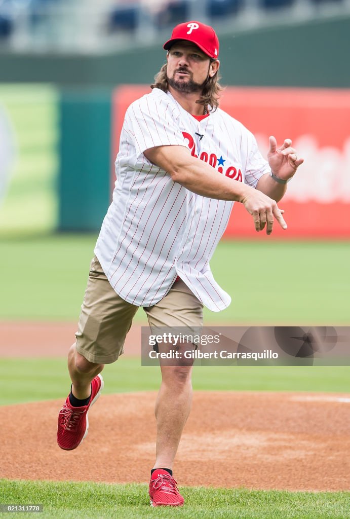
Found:
[[[115,90],[113,164],[125,111],[149,92],[146,85],[124,85]],[[298,155],[305,159],[279,202],[288,230],[276,225],[272,237],[349,238],[350,90],[227,87],[220,108],[254,133],[265,158],[269,136],[274,135],[279,145],[286,138],[292,139]],[[114,182],[113,167],[111,190]],[[265,233],[256,233],[251,217],[239,203],[225,236],[267,239]]]

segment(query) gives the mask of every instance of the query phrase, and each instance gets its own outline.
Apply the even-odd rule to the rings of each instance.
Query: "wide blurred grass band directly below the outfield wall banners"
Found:
[[[95,241],[0,239],[0,319],[77,321]],[[205,323],[347,325],[349,264],[350,242],[223,241],[211,267],[232,303],[205,311]],[[136,320],[146,322],[142,310]]]

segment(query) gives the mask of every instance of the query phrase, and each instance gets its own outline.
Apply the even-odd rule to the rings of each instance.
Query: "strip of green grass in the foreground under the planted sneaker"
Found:
[[[350,493],[180,487],[183,508],[151,508],[146,485],[0,480],[3,503],[42,504],[55,519],[347,519]],[[13,514],[31,517],[33,514]],[[5,516],[5,514],[4,514]],[[12,514],[11,514],[12,517]]]

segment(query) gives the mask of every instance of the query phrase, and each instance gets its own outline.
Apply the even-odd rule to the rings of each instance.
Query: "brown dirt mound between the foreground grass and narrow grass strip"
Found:
[[[0,407],[2,477],[146,483],[155,397],[102,395],[72,452],[55,442],[61,401]],[[181,485],[349,490],[349,405],[346,395],[196,392],[175,477]]]

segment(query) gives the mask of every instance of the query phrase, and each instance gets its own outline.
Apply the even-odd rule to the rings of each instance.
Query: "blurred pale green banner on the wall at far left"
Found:
[[[0,84],[0,235],[57,225],[58,89]]]

